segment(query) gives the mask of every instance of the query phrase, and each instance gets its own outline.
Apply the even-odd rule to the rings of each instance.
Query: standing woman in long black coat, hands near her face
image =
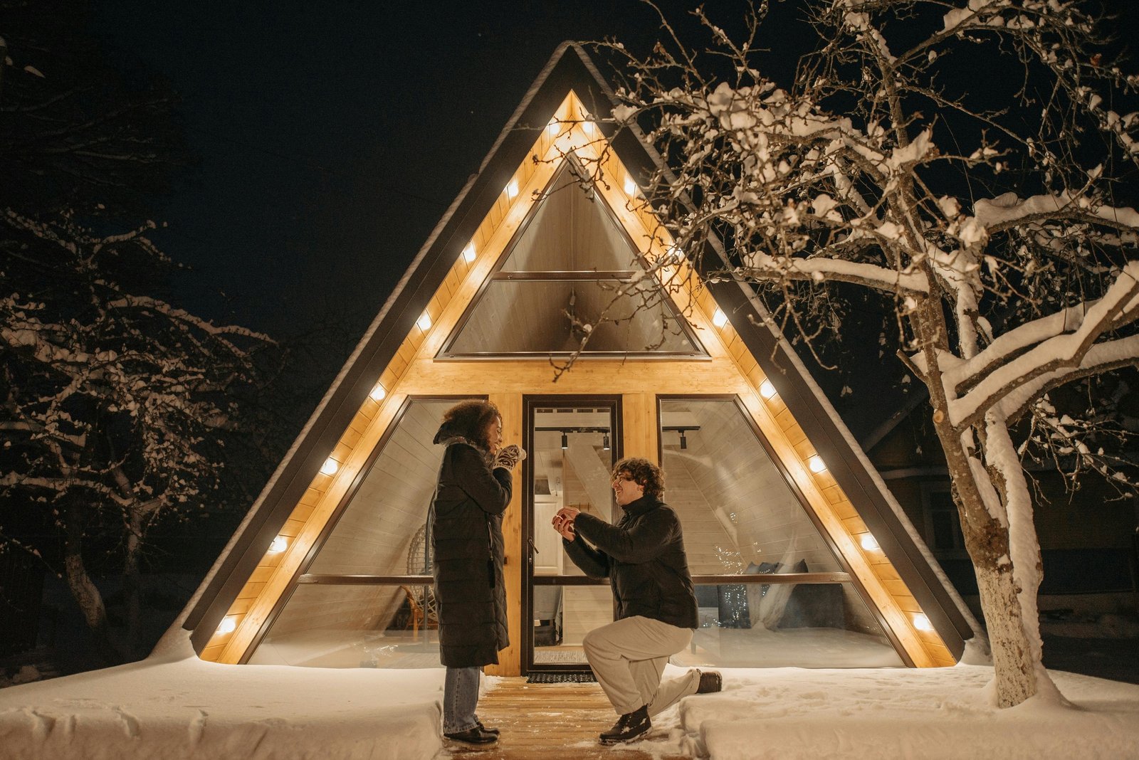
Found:
[[[443,736],[490,744],[475,708],[485,664],[509,645],[503,583],[502,514],[510,503],[510,472],[526,453],[499,448],[502,415],[490,402],[466,400],[443,414],[434,443],[445,446],[431,506],[439,654],[446,667]]]

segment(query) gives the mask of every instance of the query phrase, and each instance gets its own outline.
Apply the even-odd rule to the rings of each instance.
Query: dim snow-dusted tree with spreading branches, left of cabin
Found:
[[[148,535],[220,501],[231,395],[254,381],[251,352],[268,339],[120,287],[124,263],[163,263],[146,229],[100,236],[3,214],[0,548],[64,576],[103,654],[121,659],[137,639]],[[89,576],[108,561],[121,562],[125,646]]]

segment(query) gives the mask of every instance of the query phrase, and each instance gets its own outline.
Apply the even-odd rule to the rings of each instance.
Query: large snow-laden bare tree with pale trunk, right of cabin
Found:
[[[764,24],[767,3],[737,39],[697,11],[713,40],[700,55],[667,23],[648,56],[608,44],[624,72],[612,116],[646,125],[669,164],[647,196],[671,238],[691,257],[722,241],[719,275],[756,283],[764,319],[810,340],[841,290],[878,295],[928,387],[997,702],[1060,700],[1041,664],[1023,457],[1035,441],[1134,493],[1095,443],[1105,410],[1060,413],[1049,394],[1139,364],[1139,214],[1120,197],[1139,80],[1084,2],[796,7],[816,42],[782,85],[756,63],[788,33]]]

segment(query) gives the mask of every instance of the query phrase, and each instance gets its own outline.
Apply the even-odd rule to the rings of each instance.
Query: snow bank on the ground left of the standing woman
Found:
[[[0,758],[431,758],[443,670],[151,656],[0,691]]]

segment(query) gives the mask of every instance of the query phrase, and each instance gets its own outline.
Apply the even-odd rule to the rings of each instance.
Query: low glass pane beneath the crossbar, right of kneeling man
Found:
[[[853,585],[697,585],[699,628],[678,666],[904,667]]]

